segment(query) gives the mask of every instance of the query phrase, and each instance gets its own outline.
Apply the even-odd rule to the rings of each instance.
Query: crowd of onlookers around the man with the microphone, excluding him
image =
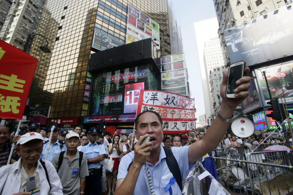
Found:
[[[51,128],[53,131],[51,142],[49,143]],[[86,134],[86,132],[81,131],[80,126],[74,127],[73,131],[69,133],[66,130],[60,130],[57,125],[50,126],[47,131],[41,129],[38,123],[32,123],[30,126],[21,127],[19,136],[12,139],[12,142],[16,143],[16,147],[13,150],[10,163],[15,163],[15,166],[13,166],[13,168],[10,167],[10,169],[22,171],[21,175],[19,175],[19,177],[21,177],[19,185],[25,182],[25,177],[30,178],[35,176],[36,186],[33,192],[40,191],[40,185],[44,184],[47,187],[49,186],[51,194],[54,194],[54,190],[58,191],[58,193],[61,190],[63,194],[74,194],[74,191],[75,194],[93,193],[114,195],[119,163],[123,156],[134,151],[134,145],[138,141],[133,133],[129,135],[123,131],[121,134],[117,133],[118,131],[112,136],[109,132],[104,132],[102,136],[99,135],[98,129],[93,127],[89,129]],[[164,134],[161,146],[168,149],[171,149],[171,147],[188,146],[203,139],[204,136],[205,131],[196,132],[194,130],[186,134]],[[268,137],[268,135],[265,134],[265,137]],[[39,140],[42,140],[42,143]],[[244,143],[258,145],[261,144],[263,140],[264,138],[258,135],[240,138],[233,134],[225,134],[216,149],[241,146]],[[290,137],[289,141],[292,143],[292,137]],[[276,144],[282,145],[284,143],[285,139],[283,137],[270,137],[262,144],[271,146]],[[48,149],[48,144],[50,144],[50,149]],[[40,145],[43,146],[40,147]],[[0,127],[0,148],[0,167],[3,167],[7,164],[11,150],[8,128],[5,126]],[[32,152],[32,150],[35,150],[34,155],[37,158],[30,157],[30,160],[25,154]],[[47,158],[46,153],[48,153]],[[105,159],[110,157],[114,161],[113,170],[112,172],[106,172]],[[41,163],[39,162],[41,161],[37,163],[39,167],[34,172],[31,170],[36,167],[28,166],[28,164],[32,164],[32,160],[37,162],[39,159],[51,161],[53,166],[47,161],[44,161],[47,170],[51,170],[47,171],[50,172],[50,174],[47,173],[48,176],[46,176],[46,173],[42,175],[42,171],[40,171],[42,167],[40,167]],[[4,177],[1,179],[0,184],[4,191],[12,189],[11,184],[7,184],[8,181],[17,182],[15,178],[10,178],[10,180],[8,180],[8,178],[5,177],[7,171],[11,172],[10,169],[6,167],[5,170],[1,170],[1,176]],[[52,172],[52,169],[57,171],[57,175],[54,174],[54,171]],[[39,173],[36,174],[36,172]],[[15,176],[18,178],[17,175]],[[47,183],[46,177],[50,178]],[[6,178],[7,181],[3,183],[4,178]],[[41,178],[43,179],[42,182],[40,182]],[[59,180],[60,182],[58,184]],[[100,188],[97,186],[100,186]],[[18,187],[16,189],[18,189]],[[25,186],[21,185],[19,191],[25,191],[26,189]]]

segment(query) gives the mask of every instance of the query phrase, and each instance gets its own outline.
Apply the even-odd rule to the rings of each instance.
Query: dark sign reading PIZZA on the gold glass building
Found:
[[[94,31],[93,33],[93,41],[92,41],[92,48],[98,50],[106,50],[111,49],[113,47],[117,47],[123,45],[121,42],[116,41],[113,38],[110,38],[100,32]]]

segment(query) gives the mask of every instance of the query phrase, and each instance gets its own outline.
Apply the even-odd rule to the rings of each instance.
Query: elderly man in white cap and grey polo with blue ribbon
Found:
[[[66,151],[54,156],[52,164],[58,172],[63,186],[64,195],[83,195],[88,176],[86,154],[79,152],[79,134],[71,132],[66,134]]]

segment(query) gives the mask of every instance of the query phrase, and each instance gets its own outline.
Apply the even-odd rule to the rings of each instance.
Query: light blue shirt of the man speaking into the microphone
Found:
[[[193,168],[195,165],[194,163],[189,165],[188,148],[189,146],[171,147],[172,153],[177,160],[183,180],[188,175],[189,169]],[[166,158],[166,154],[163,147],[161,146],[159,161],[155,164],[155,166],[148,162],[146,163],[150,171],[151,181],[154,185],[153,186],[155,191],[154,194],[170,194],[169,191],[167,192],[164,191],[164,186],[170,182],[173,175],[168,168],[165,158]],[[122,157],[119,164],[117,180],[124,179],[126,177],[128,166],[133,161],[133,159],[134,159],[134,151]],[[144,168],[145,168],[145,165],[142,166],[142,169],[139,172],[139,176],[138,176],[136,186],[134,189],[134,195],[135,194],[141,195],[142,192],[146,194],[150,194],[149,186],[147,182],[147,176],[144,171]],[[171,186],[171,188],[172,188],[173,195],[181,194],[180,188],[176,182]]]

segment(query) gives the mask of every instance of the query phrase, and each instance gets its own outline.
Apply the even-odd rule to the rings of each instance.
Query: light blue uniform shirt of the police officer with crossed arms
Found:
[[[94,144],[91,144],[89,141],[88,144],[81,147],[81,152],[86,154],[86,158],[96,158],[98,155],[106,154],[105,147],[103,144],[97,144],[95,142]],[[99,169],[101,168],[101,163],[91,163],[88,165],[88,169]]]

